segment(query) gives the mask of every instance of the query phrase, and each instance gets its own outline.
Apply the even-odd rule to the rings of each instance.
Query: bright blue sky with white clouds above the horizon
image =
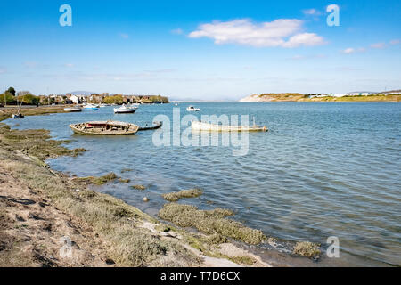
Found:
[[[400,13],[399,0],[2,1],[0,90],[236,100],[399,89]]]

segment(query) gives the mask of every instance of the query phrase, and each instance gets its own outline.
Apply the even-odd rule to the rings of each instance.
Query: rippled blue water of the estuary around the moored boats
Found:
[[[182,115],[188,105],[179,104]],[[8,123],[50,129],[58,139],[73,140],[70,147],[86,148],[82,156],[49,163],[75,175],[112,171],[130,178],[131,183],[112,183],[101,191],[153,215],[163,204],[160,194],[200,187],[200,199],[182,202],[231,208],[237,220],[283,240],[325,244],[327,237],[337,236],[340,249],[360,257],[361,265],[366,258],[401,265],[401,104],[193,105],[201,108],[197,116],[255,116],[270,132],[250,134],[249,153],[234,157],[231,148],[221,146],[156,147],[153,132],[78,136],[68,126],[98,119],[144,125],[158,114],[172,118],[173,104],[141,106],[133,115],[114,115],[104,108]],[[133,170],[121,174],[123,168]],[[129,185],[134,183],[149,189],[145,194],[132,190]],[[143,203],[143,195],[151,201]]]

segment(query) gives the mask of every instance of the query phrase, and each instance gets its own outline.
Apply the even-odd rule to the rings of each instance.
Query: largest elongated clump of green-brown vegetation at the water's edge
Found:
[[[193,227],[207,234],[217,233],[249,244],[266,240],[263,232],[227,219],[226,216],[233,216],[233,211],[227,209],[199,210],[191,205],[168,203],[160,209],[159,216],[182,227]]]

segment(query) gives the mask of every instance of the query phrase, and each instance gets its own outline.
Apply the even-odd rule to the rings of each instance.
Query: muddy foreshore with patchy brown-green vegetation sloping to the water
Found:
[[[61,111],[61,107],[22,110],[24,115]],[[0,110],[0,120],[11,114],[11,109]],[[274,239],[227,219],[233,215],[229,210],[202,211],[168,203],[159,216],[178,226],[160,222],[122,200],[89,189],[118,177],[70,177],[45,164],[45,159],[85,150],[63,147],[66,142],[52,140],[46,130],[12,130],[0,124],[0,266],[289,265],[285,258],[275,263],[251,253],[242,242],[274,243]],[[188,227],[200,232],[184,230]],[[310,243],[299,243],[295,249],[303,256],[319,254]],[[303,265],[313,263],[301,259]]]

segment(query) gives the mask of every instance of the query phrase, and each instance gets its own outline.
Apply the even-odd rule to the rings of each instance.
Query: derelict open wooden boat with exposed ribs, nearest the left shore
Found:
[[[75,134],[128,135],[135,134],[139,126],[118,121],[93,121],[71,124],[70,128]]]

